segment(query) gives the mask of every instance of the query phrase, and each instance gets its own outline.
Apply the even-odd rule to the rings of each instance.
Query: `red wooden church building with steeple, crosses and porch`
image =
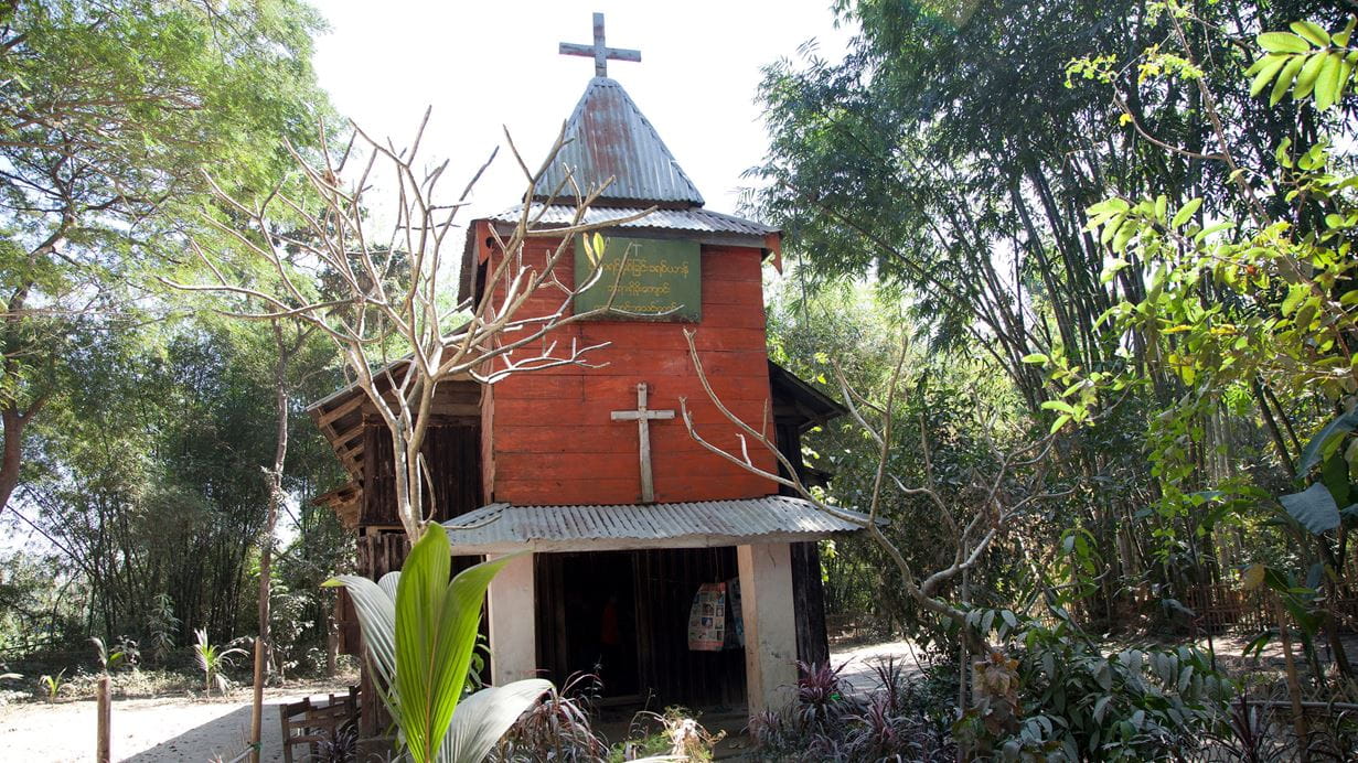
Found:
[[[794,660],[828,658],[816,540],[857,528],[689,436],[680,398],[706,440],[740,448],[698,380],[683,331],[695,331],[708,379],[736,415],[759,426],[769,406],[770,432],[799,468],[801,434],[843,410],[769,361],[762,266],[777,257],[779,234],[703,209],[656,129],[607,77],[608,58],[640,53],[604,48],[598,15],[595,45],[562,52],[595,57],[596,76],[543,186],[555,186],[566,167],[583,187],[611,178],[589,221],[656,210],[604,231],[606,272],[627,251],[617,291],[600,280],[625,314],[553,337],[562,346],[603,345],[589,367],[440,386],[425,451],[435,510],[454,553],[470,561],[531,551],[490,587],[493,683],[543,676],[559,686],[577,671],[598,672],[604,696],[621,702],[744,703],[752,714],[790,698]],[[543,223],[527,244],[530,263],[559,242],[545,228],[574,212],[550,201],[530,201]],[[469,227],[459,300],[493,288],[485,274],[501,253],[492,229],[508,234],[520,212]],[[561,274],[568,286],[591,272],[576,248],[576,273]],[[587,291],[576,308],[598,299]],[[524,310],[558,303],[545,296]],[[663,315],[637,319],[646,312]],[[318,501],[357,534],[360,567],[376,577],[399,569],[406,543],[391,500],[390,440],[365,407],[363,391],[349,388],[310,410],[352,477]],[[754,444],[750,455],[778,468]],[[341,620],[356,652],[357,629]]]

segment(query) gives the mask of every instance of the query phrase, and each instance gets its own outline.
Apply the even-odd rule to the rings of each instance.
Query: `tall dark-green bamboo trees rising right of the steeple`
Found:
[[[1160,497],[1154,466],[1141,458],[1146,421],[1183,388],[1145,356],[1150,338],[1100,320],[1124,299],[1143,299],[1152,280],[1135,258],[1103,278],[1105,251],[1085,229],[1084,210],[1114,186],[1137,198],[1164,196],[1175,208],[1200,197],[1243,209],[1229,193],[1230,168],[1213,159],[1218,134],[1203,94],[1232,114],[1222,134],[1248,166],[1274,166],[1268,147],[1289,134],[1313,136],[1305,110],[1270,110],[1249,96],[1238,76],[1249,56],[1237,43],[1267,19],[1312,4],[1195,5],[1202,23],[1183,43],[1161,3],[982,0],[948,18],[934,7],[839,3],[842,18],[862,27],[842,62],[809,57],[766,71],[771,147],[751,171],[767,181],[754,204],[784,228],[809,286],[845,276],[880,284],[932,346],[1002,369],[1033,415],[1052,424],[1069,415],[1052,398],[1074,384],[1038,358],[1145,372],[1145,387],[1100,401],[1122,405],[1077,406],[1100,413],[1065,429],[1058,449],[1063,471],[1081,477],[1080,498],[1062,519],[1089,529],[1116,570],[1100,578],[1088,611],[1116,622],[1120,607],[1134,606],[1119,597],[1120,584],[1150,576],[1168,592],[1183,566],[1188,578],[1214,572],[1194,562],[1210,553],[1157,563],[1167,558],[1156,539],[1181,540],[1184,528],[1138,517]],[[1123,65],[1127,50],[1165,56]],[[1082,64],[1109,58],[1119,65]],[[1200,72],[1196,83],[1160,76],[1187,61]],[[1108,81],[1090,81],[1101,76]],[[1070,394],[1104,388],[1078,384]]]

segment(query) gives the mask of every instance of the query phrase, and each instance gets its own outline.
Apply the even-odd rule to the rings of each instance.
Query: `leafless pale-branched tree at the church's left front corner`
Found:
[[[335,343],[348,372],[391,433],[397,512],[411,540],[421,535],[429,513],[421,490],[428,477],[421,447],[437,386],[455,377],[494,383],[511,373],[587,364],[587,353],[603,345],[580,346],[572,341],[558,346],[550,334],[611,310],[611,300],[606,300],[595,310],[572,311],[574,296],[602,278],[602,258],[592,258],[593,273],[573,285],[558,277],[559,269],[573,267],[568,255],[576,235],[649,212],[585,223],[585,212],[608,183],[583,190],[568,172],[555,187],[539,187],[564,145],[564,128],[538,171],[528,170],[507,132],[528,185],[524,200],[540,196],[546,201],[524,204],[508,236],[492,229],[496,255],[485,288],[479,296],[454,304],[445,299],[445,247],[449,238],[460,238],[454,235],[460,229],[458,212],[494,153],[455,202],[441,201],[440,181],[448,163],[424,170],[417,164],[428,119],[425,111],[407,149],[373,140],[356,126],[342,152],[326,149],[308,160],[292,151],[304,179],[297,191],[278,187],[262,200],[247,201],[215,185],[243,223],[212,223],[249,259],[266,266],[273,286],[249,285],[259,281],[236,277],[221,253],[205,251],[197,243],[194,253],[210,272],[212,282],[172,284],[262,304],[262,310],[230,314],[250,320],[296,320]],[[356,171],[346,172],[354,166]],[[372,220],[383,209],[369,204],[379,181],[387,183],[383,193],[394,200],[387,209],[391,221],[380,228],[380,238]],[[573,205],[574,212],[566,224],[547,227],[542,217],[558,198],[564,200],[558,204]],[[527,253],[530,239],[549,236],[558,240],[540,257],[539,248]],[[598,246],[592,236],[584,240],[589,250]],[[543,304],[550,308],[542,310]]]

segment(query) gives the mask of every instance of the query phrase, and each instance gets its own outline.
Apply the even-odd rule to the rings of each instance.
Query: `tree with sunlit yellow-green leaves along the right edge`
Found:
[[[1344,576],[1347,536],[1358,527],[1353,512],[1340,513],[1340,506],[1351,502],[1351,464],[1358,462],[1358,451],[1344,447],[1358,425],[1358,415],[1348,413],[1358,394],[1358,292],[1351,285],[1351,229],[1358,225],[1358,206],[1350,190],[1358,175],[1336,148],[1342,128],[1335,113],[1353,92],[1358,49],[1350,46],[1350,37],[1358,20],[1334,34],[1313,22],[1294,22],[1291,33],[1258,35],[1262,54],[1244,72],[1252,79],[1251,94],[1267,96],[1272,105],[1290,94],[1301,105],[1298,122],[1321,129],[1309,145],[1281,138],[1271,162],[1260,166],[1233,149],[1219,117],[1222,107],[1202,86],[1196,60],[1186,50],[1190,30],[1200,19],[1175,3],[1165,8],[1179,50],[1139,52],[1130,62],[1105,61],[1095,68],[1145,68],[1161,56],[1179,57],[1184,64],[1167,76],[1199,90],[1214,124],[1210,160],[1229,170],[1229,178],[1215,198],[1195,197],[1175,205],[1164,196],[1118,194],[1088,209],[1088,229],[1111,250],[1105,278],[1116,277],[1130,261],[1154,269],[1150,289],[1116,304],[1108,322],[1119,333],[1143,337],[1148,368],[1173,376],[1184,390],[1164,406],[1153,426],[1153,432],[1169,434],[1150,441],[1164,489],[1156,508],[1169,516],[1200,513],[1205,501],[1195,490],[1210,487],[1233,500],[1222,501],[1230,513],[1263,509],[1286,517],[1283,527],[1296,542],[1287,555],[1312,572],[1304,585],[1301,580],[1287,582],[1287,576],[1268,580],[1287,595],[1289,610],[1305,631],[1325,631],[1335,665],[1348,677],[1353,669],[1334,606],[1351,585]],[[1169,144],[1164,149],[1186,151]],[[1090,380],[1063,358],[1051,365],[1055,376]],[[1148,383],[1134,369],[1092,382],[1109,388]],[[1228,453],[1219,453],[1228,462],[1225,474],[1196,468],[1196,453],[1217,455],[1229,444],[1199,422],[1217,415],[1221,401],[1232,396],[1256,402],[1251,418],[1258,417],[1256,426],[1268,432],[1277,463],[1296,481],[1296,491],[1278,496],[1277,502],[1271,485],[1232,468]],[[1285,406],[1279,396],[1293,405]],[[1082,403],[1054,405],[1077,410]],[[1313,436],[1302,439],[1298,432]],[[1202,520],[1202,525],[1210,534],[1211,521]],[[1258,585],[1264,578],[1258,551],[1241,550],[1240,555],[1237,563],[1259,565]],[[1308,588],[1315,589],[1313,597],[1296,596]]]

